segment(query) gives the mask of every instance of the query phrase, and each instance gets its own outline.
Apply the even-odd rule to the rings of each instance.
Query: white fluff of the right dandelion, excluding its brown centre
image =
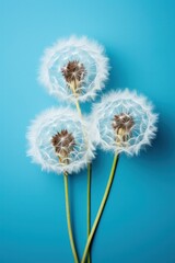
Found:
[[[118,141],[120,137],[116,137],[113,123],[115,115],[120,114],[133,119],[127,141],[122,142]],[[153,113],[153,106],[145,96],[126,89],[103,96],[100,103],[94,104],[91,119],[93,123],[91,134],[96,145],[104,150],[132,156],[138,155],[143,146],[151,145],[155,137],[158,114]]]

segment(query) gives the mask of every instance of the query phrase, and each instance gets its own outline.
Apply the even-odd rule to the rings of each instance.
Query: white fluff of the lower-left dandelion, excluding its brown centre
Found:
[[[59,161],[51,144],[52,136],[65,129],[73,136],[75,142],[68,157],[68,164]],[[68,107],[47,110],[28,127],[27,156],[32,157],[33,162],[40,164],[43,170],[58,174],[79,172],[94,157],[94,146],[86,130],[86,121],[81,121],[77,112]]]

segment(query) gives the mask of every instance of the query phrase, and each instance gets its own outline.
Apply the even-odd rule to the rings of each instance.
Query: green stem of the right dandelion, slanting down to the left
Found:
[[[116,168],[117,168],[117,163],[118,163],[118,155],[115,155],[114,161],[113,161],[112,171],[110,171],[110,175],[109,175],[109,179],[108,179],[108,182],[107,182],[107,185],[106,185],[106,190],[105,190],[105,193],[104,193],[104,196],[103,196],[101,206],[100,206],[100,208],[98,208],[98,211],[97,211],[95,221],[94,221],[94,224],[93,224],[91,233],[90,233],[89,239],[88,239],[88,241],[86,241],[86,245],[85,245],[85,249],[84,249],[83,259],[82,259],[81,263],[85,263],[85,259],[86,259],[86,255],[88,255],[88,252],[89,252],[89,248],[90,248],[91,242],[92,242],[92,240],[93,240],[95,230],[96,230],[97,225],[98,225],[98,222],[100,222],[102,213],[103,213],[103,210],[104,210],[104,207],[105,207],[105,204],[106,204],[106,201],[107,201],[107,197],[108,197],[108,194],[109,194],[112,184],[113,184],[113,180],[114,180],[115,171],[116,171]]]

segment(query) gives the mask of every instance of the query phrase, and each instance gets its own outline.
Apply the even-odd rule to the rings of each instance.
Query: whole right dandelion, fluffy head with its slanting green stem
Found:
[[[158,115],[148,100],[136,92],[112,92],[94,105],[92,137],[104,150],[115,153],[106,190],[88,238],[81,263],[84,263],[115,176],[120,152],[137,155],[155,137]]]

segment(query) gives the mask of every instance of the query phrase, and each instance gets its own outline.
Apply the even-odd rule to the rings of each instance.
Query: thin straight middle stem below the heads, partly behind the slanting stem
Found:
[[[92,164],[88,164],[88,195],[86,195],[86,230],[88,230],[88,238],[91,231],[91,172],[92,172]],[[88,263],[91,263],[91,249],[88,251]]]

